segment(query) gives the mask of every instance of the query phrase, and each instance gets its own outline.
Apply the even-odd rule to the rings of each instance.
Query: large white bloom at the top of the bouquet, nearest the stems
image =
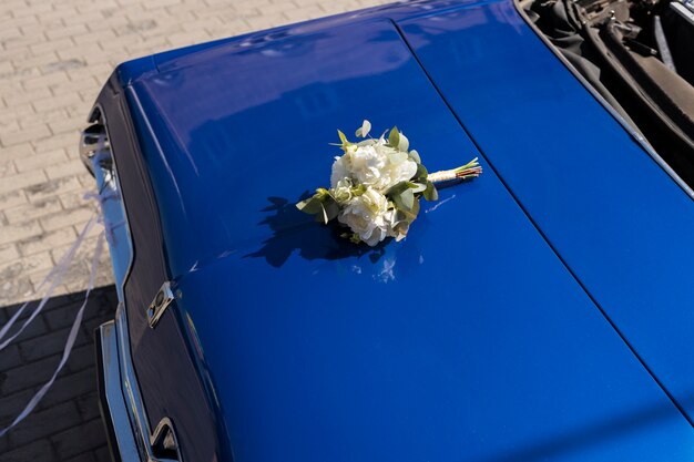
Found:
[[[341,157],[336,157],[330,175],[330,186],[345,178],[355,184],[386,192],[395,184],[410,179],[417,173],[417,163],[407,153],[386,145],[384,138],[349,145]]]

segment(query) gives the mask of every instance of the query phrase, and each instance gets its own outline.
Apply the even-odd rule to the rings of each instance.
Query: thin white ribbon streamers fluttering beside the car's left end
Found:
[[[72,253],[72,256],[74,255],[74,251],[80,246],[81,242],[84,239],[84,236],[86,235],[86,232],[92,227],[92,225],[94,223],[95,223],[94,217],[92,217],[92,219],[90,219],[90,222],[86,224],[86,226],[84,226],[84,230],[80,234],[80,237],[78,238],[78,242],[74,244],[74,246],[70,249],[71,251],[69,251],[68,254]],[[86,302],[89,301],[89,295],[92,291],[92,289],[94,288],[94,279],[96,278],[96,269],[99,267],[99,258],[101,257],[101,253],[103,251],[103,239],[104,239],[104,232],[101,232],[99,234],[99,239],[96,240],[96,249],[94,251],[94,256],[92,257],[92,268],[91,268],[91,273],[90,273],[90,276],[89,276],[89,285],[86,287],[86,292],[84,294],[84,301],[82,302],[82,306],[78,310],[78,314],[74,317],[74,321],[72,322],[72,328],[70,329],[70,333],[68,335],[68,340],[65,341],[65,348],[63,350],[63,356],[60,359],[60,363],[55,368],[55,371],[53,372],[53,376],[51,377],[51,379],[48,382],[45,382],[43,384],[43,387],[41,387],[41,389],[39,391],[37,391],[37,393],[31,398],[31,400],[29,401],[29,403],[27,404],[24,410],[19,415],[17,415],[17,418],[14,418],[12,423],[10,423],[7,428],[0,430],[0,437],[4,435],[14,425],[17,425],[19,422],[24,420],[24,418],[27,415],[29,415],[29,413],[31,411],[33,411],[33,409],[37,407],[37,404],[39,404],[41,399],[50,390],[51,386],[55,381],[55,378],[58,377],[58,374],[60,373],[62,368],[65,366],[65,362],[68,361],[68,358],[70,357],[70,352],[72,351],[72,347],[74,347],[74,341],[75,341],[75,339],[78,337],[78,333],[80,332],[79,329],[80,329],[80,326],[82,325],[82,317],[84,316],[84,309],[86,308]],[[69,263],[69,260],[72,259],[72,256],[70,256],[69,259],[65,259],[63,257],[63,259],[61,259],[61,264],[63,263],[63,260]],[[55,268],[58,268],[59,266],[57,266]],[[51,275],[49,274],[49,276],[51,276]],[[62,274],[58,274],[58,277],[55,279],[60,280],[61,277],[62,277]],[[48,278],[49,277],[47,277],[47,280],[48,280]],[[41,284],[41,285],[43,285],[43,284]],[[41,310],[41,308],[43,308],[43,305],[45,305],[45,301],[48,300],[48,297],[50,296],[50,291],[54,288],[54,285],[55,285],[55,283],[53,283],[51,285],[51,288],[49,289],[49,292],[47,292],[47,296],[43,298],[43,300],[41,300],[42,304],[40,304],[40,308],[38,308],[34,311],[34,314],[32,314],[32,317],[30,319],[33,319],[33,317],[35,317],[35,315],[38,315],[38,312]],[[27,326],[27,324],[28,322],[24,322],[24,326],[22,326],[22,329]],[[21,332],[22,329],[20,329],[20,332]],[[2,333],[4,333],[7,330],[3,328],[3,332]],[[6,341],[6,343],[3,343],[3,346],[7,345],[7,342],[11,341],[18,335],[19,333],[16,333],[10,339],[8,339],[8,341]]]

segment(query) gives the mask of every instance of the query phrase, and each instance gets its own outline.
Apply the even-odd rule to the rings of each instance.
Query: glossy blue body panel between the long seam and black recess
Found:
[[[401,25],[508,187],[694,419],[694,203],[510,2]]]

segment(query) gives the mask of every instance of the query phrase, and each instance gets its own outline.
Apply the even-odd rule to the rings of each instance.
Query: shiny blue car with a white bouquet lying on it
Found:
[[[114,460],[694,460],[690,9],[415,1],[120,65],[81,141]],[[484,173],[351,244],[295,204],[364,119]]]

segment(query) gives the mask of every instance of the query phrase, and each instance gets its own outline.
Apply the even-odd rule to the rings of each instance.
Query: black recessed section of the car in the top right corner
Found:
[[[694,3],[521,0],[519,4],[575,70],[694,186]]]

